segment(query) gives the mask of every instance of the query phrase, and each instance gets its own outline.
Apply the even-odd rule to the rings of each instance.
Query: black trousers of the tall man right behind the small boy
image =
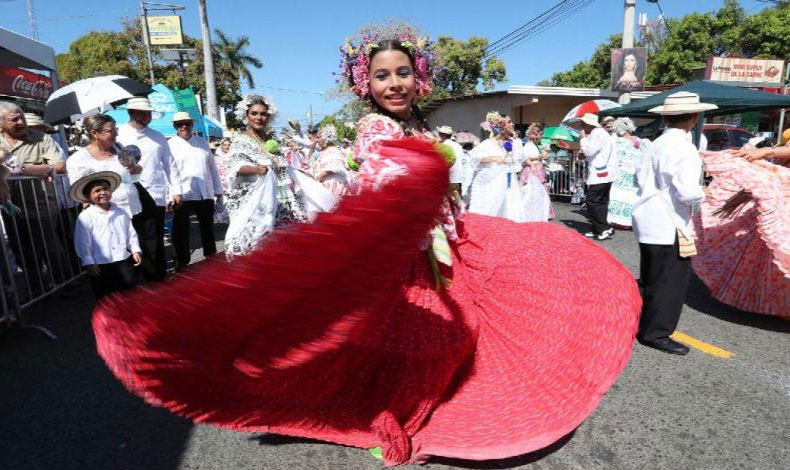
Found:
[[[165,208],[157,206],[154,199],[140,183],[135,183],[143,211],[132,217],[132,226],[143,250],[143,278],[161,281],[167,273],[165,260]]]

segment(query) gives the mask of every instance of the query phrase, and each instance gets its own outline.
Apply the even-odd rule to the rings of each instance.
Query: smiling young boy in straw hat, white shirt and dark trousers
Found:
[[[96,299],[137,284],[142,263],[140,243],[129,216],[111,202],[121,177],[112,171],[88,174],[72,184],[69,195],[90,204],[77,218],[74,246]]]

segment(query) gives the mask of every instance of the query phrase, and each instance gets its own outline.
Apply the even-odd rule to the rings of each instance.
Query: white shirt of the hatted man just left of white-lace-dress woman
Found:
[[[174,188],[179,188],[183,200],[200,201],[222,195],[214,154],[205,139],[192,136],[186,140],[176,136],[170,139],[168,146],[178,169],[178,180],[173,177],[171,181]]]

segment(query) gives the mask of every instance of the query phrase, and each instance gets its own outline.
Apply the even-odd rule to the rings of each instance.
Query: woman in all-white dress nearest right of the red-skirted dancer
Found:
[[[510,141],[510,120],[497,112],[481,124],[491,135],[470,153],[475,175],[469,212],[524,222],[524,202],[518,182],[523,157]]]

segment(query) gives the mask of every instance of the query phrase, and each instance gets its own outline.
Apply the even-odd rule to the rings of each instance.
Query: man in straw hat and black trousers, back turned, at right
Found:
[[[694,93],[669,95],[652,113],[664,116],[667,129],[653,144],[636,174],[638,200],[633,227],[639,241],[642,316],[637,340],[671,354],[688,348],[669,337],[680,320],[691,259],[681,257],[679,236],[691,237],[691,212],[702,202],[702,160],[688,138],[700,113],[716,105],[700,103]]]

